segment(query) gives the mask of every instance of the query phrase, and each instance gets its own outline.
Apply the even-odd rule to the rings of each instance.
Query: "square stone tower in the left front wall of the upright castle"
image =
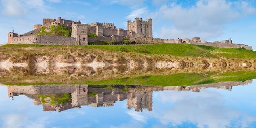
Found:
[[[76,44],[88,44],[88,24],[73,23],[71,37],[76,38]]]

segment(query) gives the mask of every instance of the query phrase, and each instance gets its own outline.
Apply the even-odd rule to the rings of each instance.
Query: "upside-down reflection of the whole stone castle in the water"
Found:
[[[199,92],[202,88],[218,88],[232,90],[232,86],[252,83],[221,82],[195,86],[133,86],[133,85],[39,85],[39,86],[8,86],[9,97],[25,95],[34,100],[35,105],[43,105],[44,111],[64,111],[71,108],[81,108],[84,105],[93,107],[113,106],[116,101],[127,99],[127,108],[135,111],[147,109],[152,111],[152,93],[162,90]],[[57,103],[54,97],[70,95],[70,99]],[[43,98],[43,99],[42,99]],[[56,99],[57,99],[56,98]]]

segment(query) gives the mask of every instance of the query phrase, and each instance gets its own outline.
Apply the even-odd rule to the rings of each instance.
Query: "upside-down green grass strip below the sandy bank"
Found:
[[[210,84],[226,81],[246,81],[256,78],[256,72],[240,71],[227,73],[178,73],[167,76],[139,76],[133,78],[108,79],[100,81],[75,82],[73,84],[124,84],[124,85],[159,85],[159,86],[188,86]],[[3,83],[6,85],[41,85],[65,83]],[[99,86],[101,87],[101,86]]]

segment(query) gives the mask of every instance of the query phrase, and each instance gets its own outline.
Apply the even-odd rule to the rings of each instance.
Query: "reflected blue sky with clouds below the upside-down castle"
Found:
[[[127,100],[111,107],[81,106],[43,111],[24,95],[8,97],[0,85],[0,128],[256,128],[256,81],[232,91],[153,92],[152,111],[128,109]]]

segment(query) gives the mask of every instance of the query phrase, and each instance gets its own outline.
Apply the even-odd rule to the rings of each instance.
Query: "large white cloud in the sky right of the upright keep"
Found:
[[[159,0],[153,3],[157,3]],[[175,1],[175,0],[174,0]],[[146,7],[134,10],[127,18],[151,17],[162,21],[164,25],[159,38],[191,38],[198,36],[212,39],[224,32],[227,23],[232,23],[241,17],[253,14],[256,9],[246,1],[228,2],[226,0],[198,0],[195,5],[183,7],[177,3],[163,4],[156,11]],[[156,23],[156,22],[154,22]],[[153,27],[154,27],[153,23]]]

